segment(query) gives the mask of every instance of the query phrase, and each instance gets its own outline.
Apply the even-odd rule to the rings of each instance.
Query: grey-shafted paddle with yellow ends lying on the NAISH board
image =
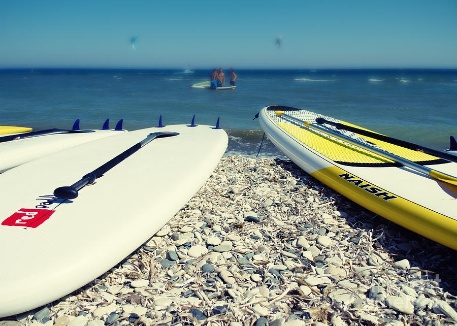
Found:
[[[301,120],[301,119],[298,119],[296,117],[292,117],[288,114],[285,114],[283,111],[276,111],[275,112],[276,115],[280,116],[280,117],[286,117],[287,119],[289,120],[292,120],[292,121],[296,121],[296,122],[299,122],[299,123],[303,123],[306,127],[308,128],[311,128],[311,129],[315,129],[317,131],[320,131],[321,133],[324,133],[326,135],[330,135],[332,137],[335,137],[339,140],[342,140],[344,142],[347,142],[349,144],[352,144],[354,146],[357,146],[357,147],[360,147],[360,148],[363,148],[369,152],[372,152],[372,153],[375,153],[375,154],[378,154],[379,156],[382,156],[382,157],[385,157],[387,159],[390,159],[390,160],[393,160],[394,162],[397,162],[405,167],[408,167],[412,170],[415,170],[417,172],[420,172],[420,173],[423,173],[423,174],[426,174],[428,176],[430,176],[431,178],[433,179],[436,179],[436,180],[439,180],[439,181],[443,181],[443,182],[447,182],[447,183],[450,183],[450,184],[453,184],[453,185],[457,185],[457,178],[451,176],[451,175],[448,175],[448,174],[445,174],[445,173],[442,173],[442,172],[439,172],[439,171],[436,171],[436,170],[433,170],[433,169],[430,169],[430,168],[427,168],[427,167],[423,167],[421,165],[418,165],[406,158],[403,158],[403,157],[400,157],[400,156],[397,156],[395,154],[392,154],[392,153],[389,153],[387,151],[384,151],[384,150],[381,150],[381,149],[377,149],[376,147],[373,147],[373,146],[370,146],[368,144],[364,144],[360,141],[357,141],[355,139],[352,139],[352,138],[349,138],[347,136],[344,136],[342,134],[338,134],[334,131],[331,131],[329,129],[326,129],[324,127],[321,127],[319,125],[316,125],[316,124],[313,124],[311,123],[310,121],[304,121],[304,120]]]

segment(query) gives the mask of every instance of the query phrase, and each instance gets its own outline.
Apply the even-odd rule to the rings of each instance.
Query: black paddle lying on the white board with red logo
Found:
[[[132,147],[126,149],[116,157],[110,159],[108,162],[106,162],[104,165],[96,168],[92,172],[86,174],[81,178],[81,180],[75,182],[71,186],[63,186],[63,187],[58,187],[54,190],[54,195],[55,197],[61,198],[61,199],[74,199],[78,197],[78,190],[80,190],[82,187],[84,187],[86,184],[93,183],[95,179],[100,178],[104,173],[107,171],[111,170],[113,167],[118,165],[121,161],[123,161],[125,158],[128,156],[132,155],[136,151],[138,151],[140,148],[145,146],[147,143],[150,141],[156,139],[156,138],[162,138],[162,137],[170,137],[170,136],[176,136],[179,135],[179,133],[173,133],[173,132],[158,132],[158,133],[152,133],[149,134],[148,137],[143,139],[141,142],[133,145]]]

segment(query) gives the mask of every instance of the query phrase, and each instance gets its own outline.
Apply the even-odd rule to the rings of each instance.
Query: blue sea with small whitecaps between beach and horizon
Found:
[[[226,84],[230,80],[224,70]],[[235,90],[189,88],[211,70],[0,70],[0,124],[35,130],[101,128],[119,119],[129,131],[163,124],[220,126],[228,154],[255,157],[267,105],[318,112],[405,141],[444,150],[457,137],[457,70],[236,70]],[[266,138],[259,157],[283,157]]]

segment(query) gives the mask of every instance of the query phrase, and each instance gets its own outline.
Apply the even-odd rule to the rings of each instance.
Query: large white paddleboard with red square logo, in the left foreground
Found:
[[[151,133],[156,138],[78,191],[70,186]],[[153,236],[204,184],[227,146],[223,129],[169,125],[97,139],[0,175],[0,317],[61,298]],[[6,265],[5,265],[6,266]]]

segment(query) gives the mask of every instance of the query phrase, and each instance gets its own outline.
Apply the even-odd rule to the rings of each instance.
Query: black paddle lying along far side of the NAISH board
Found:
[[[450,161],[453,161],[453,162],[457,162],[457,156],[456,155],[453,155],[453,154],[450,154],[450,153],[446,153],[446,152],[442,152],[442,151],[439,151],[439,150],[436,150],[436,149],[433,149],[433,148],[423,147],[423,146],[420,146],[420,145],[417,145],[417,144],[413,144],[413,143],[409,143],[409,142],[406,142],[406,141],[403,141],[403,140],[400,140],[400,139],[391,138],[391,137],[384,136],[384,135],[379,135],[379,134],[376,134],[376,133],[372,133],[372,132],[366,131],[364,129],[352,127],[350,125],[346,125],[346,124],[342,124],[342,123],[338,123],[338,122],[325,120],[324,118],[317,118],[316,122],[317,123],[321,123],[321,124],[323,124],[323,123],[331,124],[331,125],[335,126],[337,129],[343,129],[343,130],[346,130],[348,132],[353,132],[353,133],[356,133],[356,134],[359,134],[359,135],[368,136],[368,137],[371,137],[371,138],[374,138],[374,139],[377,139],[377,140],[381,140],[381,141],[386,142],[386,143],[398,145],[398,146],[405,147],[405,148],[408,148],[408,149],[411,149],[411,150],[415,150],[415,151],[418,151],[418,152],[430,154],[430,155],[433,155],[433,156],[436,156],[436,157],[441,157],[441,158],[444,158],[444,159],[447,159],[447,160],[450,160]]]

